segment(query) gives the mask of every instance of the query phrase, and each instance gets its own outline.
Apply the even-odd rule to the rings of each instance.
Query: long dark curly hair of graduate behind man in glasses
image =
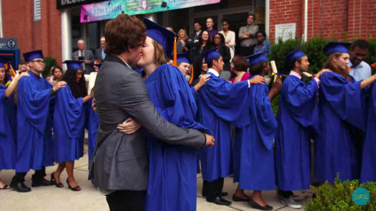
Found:
[[[87,95],[85,77],[83,75],[77,83],[77,72],[78,70],[73,68],[66,70],[63,76],[63,81],[69,86],[73,97],[85,97]]]

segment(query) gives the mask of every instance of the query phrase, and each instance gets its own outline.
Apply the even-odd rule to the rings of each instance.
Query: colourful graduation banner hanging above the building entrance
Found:
[[[81,6],[81,22],[176,10],[193,6],[219,3],[221,0],[109,0]]]

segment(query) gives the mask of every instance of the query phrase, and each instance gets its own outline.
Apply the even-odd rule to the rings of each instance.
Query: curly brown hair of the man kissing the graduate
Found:
[[[119,55],[129,48],[136,48],[146,40],[144,23],[135,17],[120,14],[107,22],[104,30],[104,53]]]

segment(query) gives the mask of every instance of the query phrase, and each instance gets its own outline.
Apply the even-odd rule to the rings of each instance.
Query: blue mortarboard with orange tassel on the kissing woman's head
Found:
[[[179,36],[149,19],[144,18],[144,23],[147,36],[157,41],[165,49],[166,55],[171,55],[174,50],[175,36]]]

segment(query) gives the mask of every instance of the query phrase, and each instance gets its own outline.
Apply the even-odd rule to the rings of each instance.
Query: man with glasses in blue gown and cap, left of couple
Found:
[[[30,169],[36,170],[33,187],[52,184],[44,176],[45,167],[54,164],[50,103],[60,86],[52,88],[40,77],[45,67],[42,51],[24,53],[23,57],[29,63],[30,76],[22,77],[18,84],[16,175],[10,186],[18,192],[29,192],[23,182]]]

